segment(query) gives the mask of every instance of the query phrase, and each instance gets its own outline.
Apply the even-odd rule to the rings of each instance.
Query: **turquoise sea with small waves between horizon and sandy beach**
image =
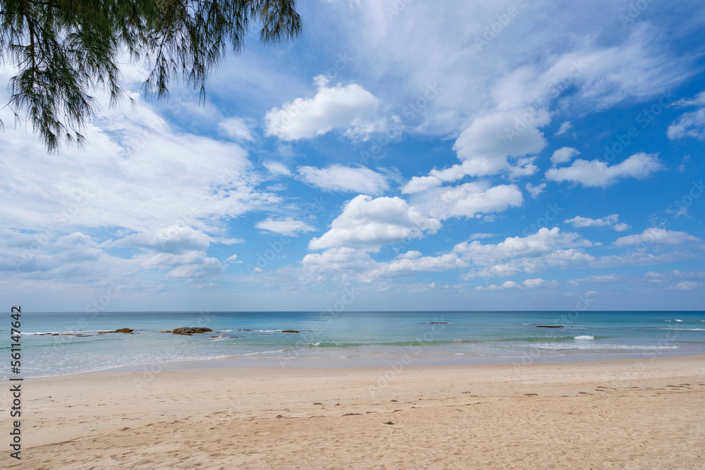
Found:
[[[20,320],[25,377],[202,359],[385,366],[402,357],[422,365],[705,353],[704,311],[25,313]],[[10,322],[8,314],[0,324],[8,362]],[[183,326],[213,332],[160,333]],[[135,333],[99,334],[117,328]]]

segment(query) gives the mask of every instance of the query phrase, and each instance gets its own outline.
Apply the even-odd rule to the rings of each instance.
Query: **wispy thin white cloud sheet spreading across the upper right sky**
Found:
[[[348,2],[338,2],[332,18],[326,19],[329,35],[344,32],[341,50],[359,58],[355,67],[393,84],[386,97],[400,106],[412,101],[410,97],[422,97],[427,84],[443,78],[441,92],[423,109],[409,106],[407,114],[421,121],[415,126],[420,132],[444,136],[449,129],[462,129],[467,116],[481,116],[488,109],[563,107],[564,101],[574,109],[603,109],[632,97],[654,96],[697,73],[687,52],[674,57],[673,49],[654,40],[669,33],[675,37],[675,24],[696,32],[695,22],[666,26],[665,21],[644,21],[605,40],[599,34],[603,19],[624,13],[614,2],[579,8],[513,6],[519,16],[482,50],[476,40],[502,11],[494,3],[455,1],[448,4],[453,15],[439,16],[433,4],[422,2],[406,1],[401,11],[373,0],[361,0],[353,10]],[[659,18],[670,14],[658,6],[655,12]],[[428,18],[435,18],[433,31],[425,28]],[[551,27],[537,30],[546,18],[551,18]]]

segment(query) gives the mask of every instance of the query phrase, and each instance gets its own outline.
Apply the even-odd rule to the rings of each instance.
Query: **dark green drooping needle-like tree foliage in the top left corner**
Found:
[[[32,122],[49,151],[82,144],[96,103],[123,96],[118,60],[144,61],[146,94],[168,96],[183,80],[200,89],[225,57],[245,45],[250,24],[271,45],[296,37],[295,0],[0,0],[0,66],[16,70],[9,84],[16,121]],[[2,123],[0,122],[0,125]]]

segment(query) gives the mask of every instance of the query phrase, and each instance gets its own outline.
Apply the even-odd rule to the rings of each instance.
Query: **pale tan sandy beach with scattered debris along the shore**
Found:
[[[25,380],[22,412],[2,468],[705,467],[703,356],[87,373]]]

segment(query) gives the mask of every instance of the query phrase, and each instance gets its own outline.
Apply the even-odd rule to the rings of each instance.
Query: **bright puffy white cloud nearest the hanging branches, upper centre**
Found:
[[[297,98],[266,113],[266,135],[281,140],[310,139],[324,135],[334,128],[361,128],[374,116],[379,100],[356,83],[328,87],[323,75],[314,79],[318,92],[314,97]]]

